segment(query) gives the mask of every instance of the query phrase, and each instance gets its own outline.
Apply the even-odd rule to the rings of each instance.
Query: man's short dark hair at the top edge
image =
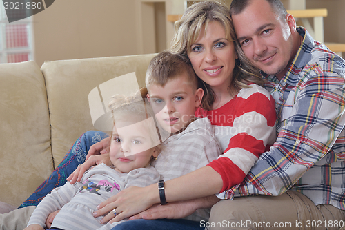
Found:
[[[255,0],[233,0],[230,5],[230,15],[240,14],[250,3]],[[266,0],[270,3],[270,7],[277,15],[281,15],[282,19],[285,19],[288,12],[280,0]]]

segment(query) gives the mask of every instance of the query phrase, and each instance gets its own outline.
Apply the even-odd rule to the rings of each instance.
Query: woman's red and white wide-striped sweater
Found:
[[[275,142],[275,101],[267,90],[256,84],[242,88],[220,108],[197,109],[197,117],[208,117],[223,154],[210,162],[223,179],[223,192],[240,184],[259,155]]]

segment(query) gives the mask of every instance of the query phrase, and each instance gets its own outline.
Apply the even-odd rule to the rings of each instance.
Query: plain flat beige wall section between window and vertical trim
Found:
[[[46,60],[137,54],[135,0],[57,0],[33,16],[34,56]]]

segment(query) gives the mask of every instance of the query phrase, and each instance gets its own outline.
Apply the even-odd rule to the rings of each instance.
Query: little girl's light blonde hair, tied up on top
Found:
[[[141,122],[145,130],[150,135],[150,140],[155,148],[160,149],[159,135],[155,125],[155,115],[152,108],[145,102],[141,96],[142,92],[135,93],[134,95],[113,95],[112,100],[109,102],[109,108],[112,111],[112,119],[114,125],[117,121],[126,121],[130,124]]]

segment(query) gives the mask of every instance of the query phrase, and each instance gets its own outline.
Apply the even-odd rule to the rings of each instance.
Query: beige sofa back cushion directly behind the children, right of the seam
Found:
[[[145,86],[146,68],[154,56],[100,57],[43,64],[55,167],[82,133],[94,129],[88,106],[90,91],[109,79],[132,72],[137,75],[139,86]]]

